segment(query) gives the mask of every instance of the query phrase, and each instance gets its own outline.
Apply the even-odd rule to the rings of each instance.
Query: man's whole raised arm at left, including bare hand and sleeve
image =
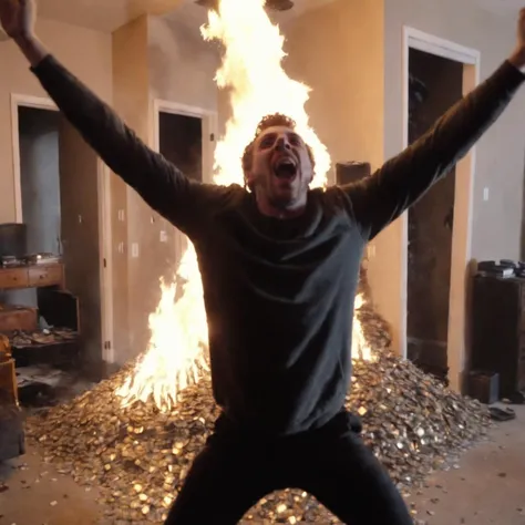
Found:
[[[185,177],[150,150],[116,113],[70,73],[33,32],[31,0],[0,0],[0,21],[31,71],[70,123],[110,168],[155,210],[189,234],[218,188]],[[202,205],[202,206],[200,206]]]

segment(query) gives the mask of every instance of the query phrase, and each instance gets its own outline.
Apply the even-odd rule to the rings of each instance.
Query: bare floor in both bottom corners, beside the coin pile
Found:
[[[525,525],[525,406],[515,410],[516,420],[501,423],[459,469],[408,498],[418,524]],[[96,491],[43,464],[38,451],[0,465],[0,525],[114,525],[101,516]]]

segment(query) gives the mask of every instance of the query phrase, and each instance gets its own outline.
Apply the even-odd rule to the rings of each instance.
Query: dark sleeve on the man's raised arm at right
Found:
[[[525,75],[505,61],[372,176],[341,186],[363,237],[375,237],[449,173],[503,113],[524,80]]]

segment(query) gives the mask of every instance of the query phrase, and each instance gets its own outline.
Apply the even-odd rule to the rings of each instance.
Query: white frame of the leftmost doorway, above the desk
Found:
[[[54,102],[44,96],[31,96],[11,93],[11,136],[14,175],[14,217],[17,223],[23,222],[22,216],[22,179],[20,169],[20,134],[18,110],[20,106],[38,110],[59,111]],[[110,169],[99,158],[99,246],[101,275],[101,331],[102,359],[109,363],[115,361],[113,341],[113,274],[111,250],[111,184]],[[104,265],[105,261],[105,265]],[[106,344],[110,341],[110,344]]]

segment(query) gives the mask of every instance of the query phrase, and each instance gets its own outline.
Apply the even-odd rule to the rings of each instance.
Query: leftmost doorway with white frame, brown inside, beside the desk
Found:
[[[80,354],[96,379],[112,361],[106,169],[47,99],[12,97],[17,220],[28,251],[59,256],[78,298]]]

